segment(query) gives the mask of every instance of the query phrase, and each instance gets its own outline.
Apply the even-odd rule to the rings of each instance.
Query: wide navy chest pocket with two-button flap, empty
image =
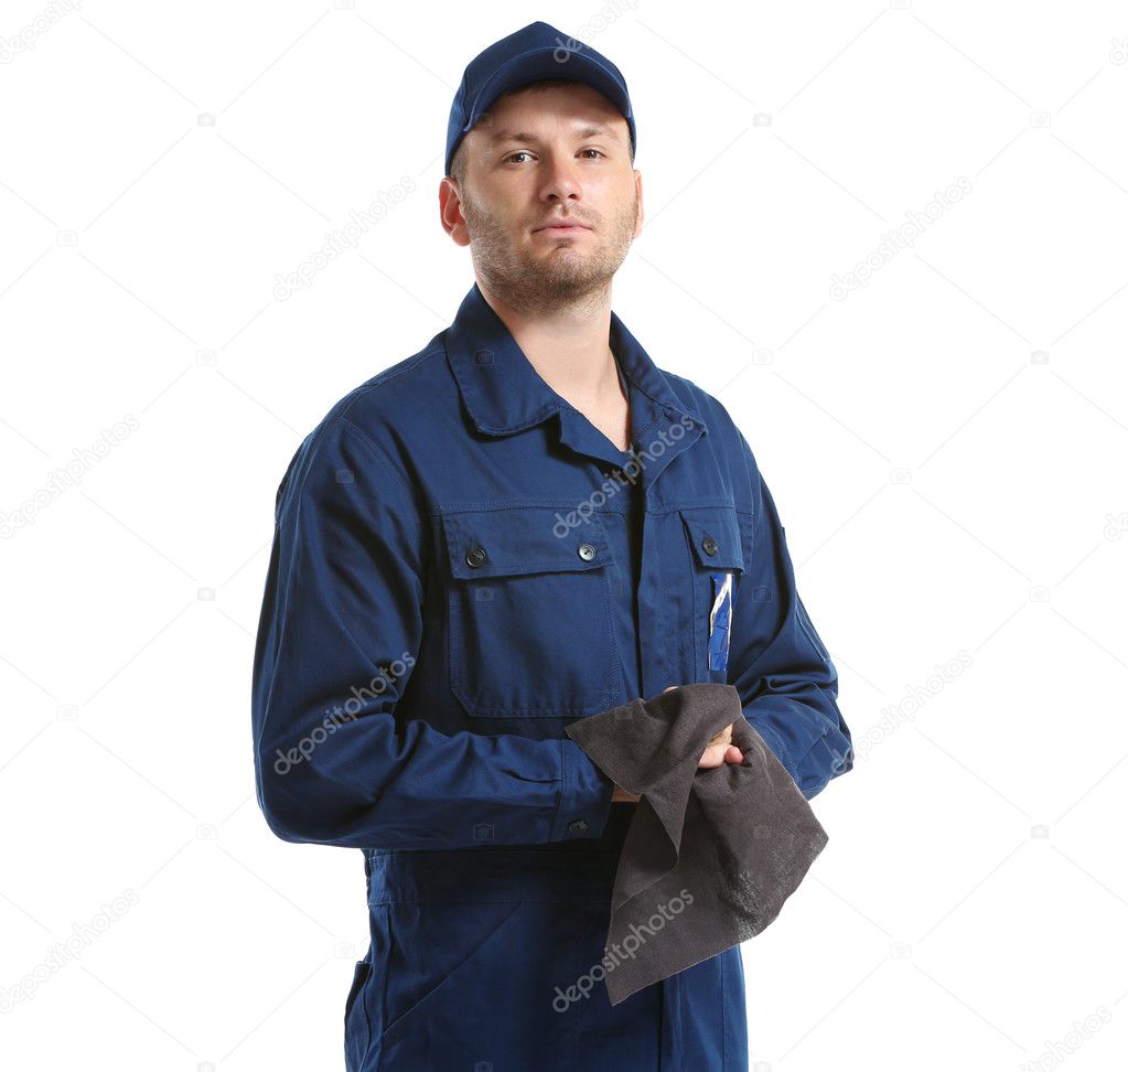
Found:
[[[576,717],[616,698],[614,559],[598,516],[559,522],[573,509],[442,515],[450,685],[472,715]]]

